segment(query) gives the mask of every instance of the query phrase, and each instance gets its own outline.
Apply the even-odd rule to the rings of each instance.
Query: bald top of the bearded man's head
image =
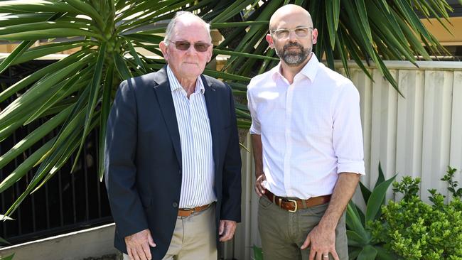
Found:
[[[269,31],[284,28],[289,21],[299,21],[301,26],[313,27],[311,15],[301,6],[287,4],[277,9],[269,19]],[[286,28],[286,27],[285,27]]]

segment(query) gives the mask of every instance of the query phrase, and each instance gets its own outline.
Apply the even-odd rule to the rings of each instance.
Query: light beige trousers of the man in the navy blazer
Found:
[[[163,260],[216,260],[215,203],[188,217],[177,217],[173,237]],[[153,234],[156,242],[156,234]],[[154,249],[155,250],[155,249]],[[124,260],[129,256],[124,254]]]

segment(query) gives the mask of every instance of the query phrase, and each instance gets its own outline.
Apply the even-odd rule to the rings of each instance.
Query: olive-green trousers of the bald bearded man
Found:
[[[309,248],[301,250],[300,247],[311,229],[323,217],[327,206],[328,203],[293,213],[281,209],[266,196],[260,197],[258,229],[262,238],[264,260],[308,260]],[[345,213],[335,228],[335,251],[341,260],[348,260]],[[329,259],[333,257],[329,255]]]

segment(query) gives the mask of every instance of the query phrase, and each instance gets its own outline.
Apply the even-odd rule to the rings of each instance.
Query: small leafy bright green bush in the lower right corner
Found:
[[[394,192],[404,197],[382,206],[381,217],[369,223],[372,239],[404,259],[462,260],[462,202],[461,192],[452,180],[454,172],[449,168],[441,179],[451,188],[452,200],[448,204],[436,190],[429,190],[432,205],[421,201],[417,196],[419,178],[406,176],[400,183],[393,183]]]

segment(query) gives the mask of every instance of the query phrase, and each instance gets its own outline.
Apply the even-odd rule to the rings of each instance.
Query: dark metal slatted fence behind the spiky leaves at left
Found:
[[[9,68],[0,75],[1,89],[4,90],[18,80],[53,62],[53,60],[33,60]],[[4,109],[15,97],[1,103],[1,109]],[[45,121],[46,119],[41,120]],[[8,139],[1,141],[0,154],[9,151],[15,143],[36,129],[40,125],[39,123],[41,122],[22,126]],[[32,149],[25,151],[21,158],[18,157],[1,168],[0,180],[4,180],[36,148],[53,138],[54,134],[57,132],[45,136]],[[26,197],[18,210],[11,216],[14,221],[1,222],[0,237],[4,237],[12,244],[18,244],[112,222],[106,188],[104,183],[100,183],[97,176],[97,161],[99,160],[97,158],[97,139],[97,130],[95,130],[88,136],[82,155],[77,158],[79,163],[74,173],[70,173],[72,163],[76,160],[72,156],[70,161],[48,183],[33,195]],[[0,194],[0,212],[2,214],[26,190],[35,170],[31,170],[15,185]]]

